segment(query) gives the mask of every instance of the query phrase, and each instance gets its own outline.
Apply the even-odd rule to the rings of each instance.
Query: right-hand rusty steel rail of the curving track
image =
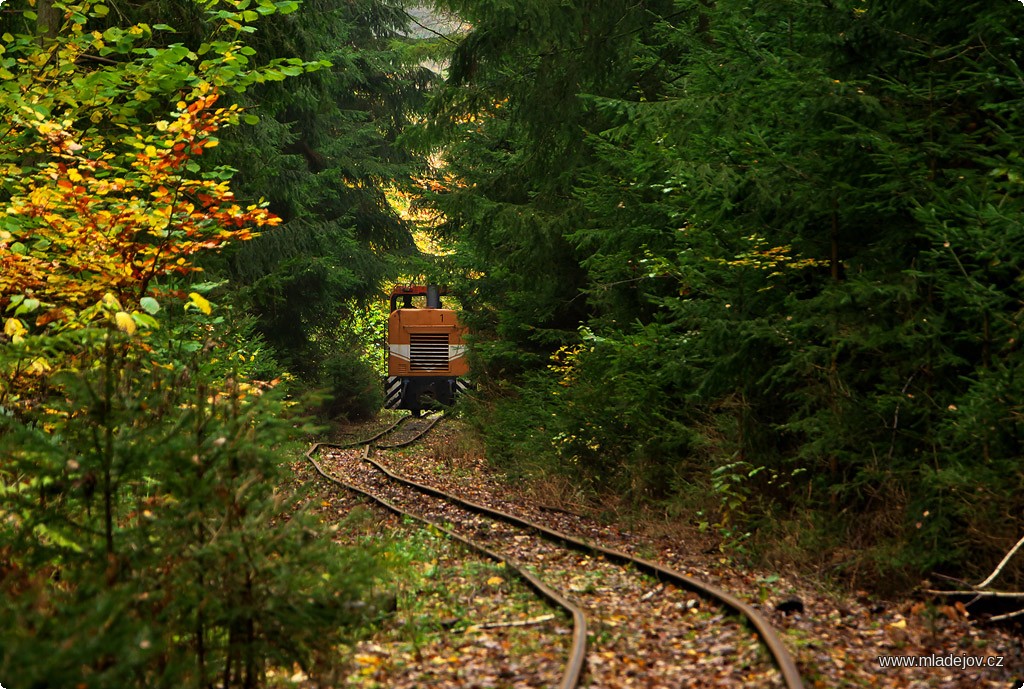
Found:
[[[322,445],[330,446],[330,445]],[[369,447],[368,447],[369,449]],[[772,659],[775,661],[775,666],[778,669],[782,676],[782,681],[785,683],[787,689],[804,689],[804,682],[800,677],[800,671],[797,669],[797,663],[794,661],[793,656],[790,655],[788,650],[785,648],[785,644],[782,643],[782,639],[778,636],[775,629],[768,622],[765,617],[755,610],[750,604],[739,600],[735,596],[718,587],[701,582],[700,579],[693,578],[692,576],[687,576],[680,571],[671,569],[656,562],[646,560],[643,558],[633,557],[622,551],[612,550],[610,548],[605,548],[603,546],[597,546],[594,544],[581,541],[574,536],[568,535],[567,533],[562,533],[555,529],[548,528],[542,524],[530,521],[528,519],[523,519],[513,514],[503,512],[502,510],[497,510],[495,508],[486,507],[484,505],[479,505],[471,501],[464,500],[457,496],[453,496],[443,490],[429,486],[411,479],[398,476],[392,473],[386,467],[380,463],[374,461],[369,456],[367,456],[366,461],[372,464],[378,471],[387,476],[393,481],[407,485],[411,488],[415,488],[427,494],[439,498],[441,500],[451,502],[454,505],[463,507],[469,511],[475,512],[481,515],[487,515],[495,519],[499,519],[508,524],[519,526],[521,528],[531,529],[539,533],[545,534],[555,541],[563,543],[565,546],[572,548],[574,550],[587,553],[600,553],[604,557],[611,561],[618,563],[629,563],[633,564],[637,569],[650,574],[663,583],[671,583],[677,586],[681,586],[688,589],[694,593],[697,593],[706,598],[711,598],[717,600],[719,603],[725,605],[726,607],[740,613],[745,617],[750,623],[754,627],[761,641],[768,648]]]

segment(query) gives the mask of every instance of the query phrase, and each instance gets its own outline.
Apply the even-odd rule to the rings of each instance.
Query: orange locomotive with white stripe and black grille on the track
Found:
[[[414,298],[419,307],[414,306]],[[464,334],[455,311],[441,308],[436,286],[394,288],[387,319],[384,406],[419,414],[451,404],[466,389],[469,367]]]

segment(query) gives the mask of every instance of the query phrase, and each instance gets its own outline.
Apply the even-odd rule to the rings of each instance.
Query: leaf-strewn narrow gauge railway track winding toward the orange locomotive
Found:
[[[439,419],[430,420],[430,427]],[[395,442],[389,427],[361,443],[317,443],[306,457],[331,482],[431,523],[478,552],[507,562],[542,596],[568,610],[574,630],[559,685],[562,689],[731,687],[737,683],[803,689],[796,664],[775,631],[730,594],[657,563],[402,478],[371,458],[374,443],[381,438],[387,442],[379,444],[380,448],[402,446],[427,430]],[[352,449],[360,444],[364,451]],[[323,465],[314,459],[316,454]],[[515,553],[514,560],[510,551]],[[586,612],[559,590],[571,592]],[[751,638],[736,617],[716,614],[714,609],[705,611],[693,594],[739,613],[758,638]],[[598,620],[589,656],[588,614]],[[760,654],[762,647],[770,659]],[[730,656],[731,664],[723,656]],[[582,672],[585,658],[589,660],[586,678]],[[694,663],[698,665],[696,683]]]

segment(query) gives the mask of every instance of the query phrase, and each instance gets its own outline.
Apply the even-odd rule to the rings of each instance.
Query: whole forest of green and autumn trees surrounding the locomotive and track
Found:
[[[1024,7],[425,5],[0,3],[0,681],[256,687],[367,625],[284,486],[411,281],[509,476],[844,589],[991,571]]]

